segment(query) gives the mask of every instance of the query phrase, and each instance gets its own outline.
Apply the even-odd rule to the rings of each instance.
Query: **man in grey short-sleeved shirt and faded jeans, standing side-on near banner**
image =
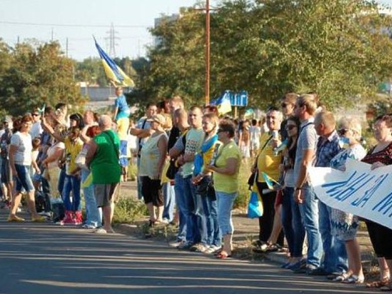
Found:
[[[314,166],[318,138],[314,129],[313,116],[316,108],[317,104],[313,95],[308,94],[298,97],[294,108],[295,115],[301,121],[294,163],[294,199],[300,204],[302,222],[308,241],[307,260],[301,260],[296,266],[291,267],[295,273],[317,273],[323,255],[322,240],[318,229],[318,200],[308,181],[308,168]]]

